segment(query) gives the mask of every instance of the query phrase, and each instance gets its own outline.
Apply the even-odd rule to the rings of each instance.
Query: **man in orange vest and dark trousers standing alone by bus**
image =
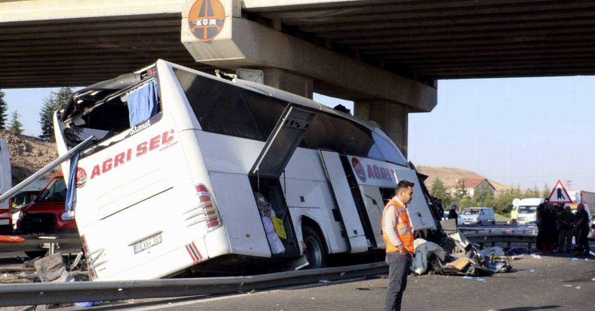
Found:
[[[389,264],[389,286],[384,300],[385,310],[400,310],[403,292],[407,287],[407,275],[411,255],[415,254],[414,236],[407,214],[407,204],[413,197],[412,182],[400,181],[394,197],[384,207],[382,238],[386,245],[386,263]]]

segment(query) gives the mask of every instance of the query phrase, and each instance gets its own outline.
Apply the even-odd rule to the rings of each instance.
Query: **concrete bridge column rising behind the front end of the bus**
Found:
[[[353,110],[355,117],[378,123],[403,155],[407,156],[408,106],[391,101],[365,99],[356,100]]]

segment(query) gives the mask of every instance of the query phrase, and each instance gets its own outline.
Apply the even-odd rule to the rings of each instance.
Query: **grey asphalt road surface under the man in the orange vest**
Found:
[[[484,277],[409,276],[403,310],[593,310],[595,257],[520,256],[513,270]],[[160,298],[58,310],[382,310],[386,276],[250,294]]]

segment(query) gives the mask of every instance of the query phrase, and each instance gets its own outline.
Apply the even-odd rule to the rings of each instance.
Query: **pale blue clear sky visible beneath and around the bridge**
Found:
[[[506,185],[595,191],[595,76],[440,80],[431,113],[409,114],[409,160],[472,170]],[[39,135],[42,99],[54,89],[4,89],[26,135]],[[353,103],[315,94],[333,107]]]

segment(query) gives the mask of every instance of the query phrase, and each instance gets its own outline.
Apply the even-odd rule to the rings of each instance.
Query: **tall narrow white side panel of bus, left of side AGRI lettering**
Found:
[[[347,182],[347,176],[345,175],[345,169],[343,169],[339,153],[320,150],[320,156],[328,182],[331,189],[333,189],[337,206],[341,212],[351,253],[367,251],[368,241],[361,219],[359,218],[358,209],[355,206],[355,201],[353,201],[353,195],[349,188],[349,182]]]

